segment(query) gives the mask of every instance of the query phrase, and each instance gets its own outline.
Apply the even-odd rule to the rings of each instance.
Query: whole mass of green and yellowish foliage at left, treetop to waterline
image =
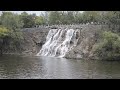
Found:
[[[19,49],[23,39],[20,31],[23,22],[20,16],[11,12],[2,12],[0,18],[0,53],[10,49]]]

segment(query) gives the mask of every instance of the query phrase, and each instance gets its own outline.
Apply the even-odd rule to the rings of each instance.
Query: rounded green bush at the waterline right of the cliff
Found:
[[[101,41],[94,46],[94,53],[101,59],[119,59],[120,36],[111,31],[103,32]]]

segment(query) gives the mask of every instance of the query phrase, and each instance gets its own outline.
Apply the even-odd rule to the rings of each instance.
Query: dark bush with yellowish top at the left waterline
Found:
[[[0,26],[0,54],[9,50],[19,51],[23,35],[20,30],[9,30],[4,26]]]

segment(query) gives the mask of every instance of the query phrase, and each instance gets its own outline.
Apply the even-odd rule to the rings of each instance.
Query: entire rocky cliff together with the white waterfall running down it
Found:
[[[94,44],[99,33],[107,30],[107,25],[63,25],[22,29],[23,40],[20,51],[8,54],[27,56],[48,56],[64,58],[93,57]]]

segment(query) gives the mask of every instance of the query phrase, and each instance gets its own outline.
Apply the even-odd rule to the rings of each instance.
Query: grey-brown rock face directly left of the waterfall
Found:
[[[23,55],[36,55],[46,41],[48,28],[23,29],[24,40],[21,43]]]

